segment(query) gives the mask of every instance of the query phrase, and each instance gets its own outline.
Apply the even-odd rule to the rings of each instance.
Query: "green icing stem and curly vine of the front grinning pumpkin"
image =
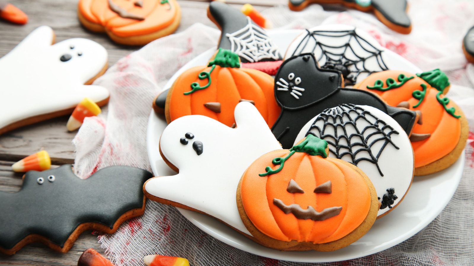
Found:
[[[265,167],[266,173],[258,174],[261,177],[265,177],[268,175],[276,174],[283,169],[283,165],[286,160],[288,160],[295,152],[306,152],[309,155],[319,155],[322,158],[328,157],[326,153],[326,148],[328,147],[328,142],[325,140],[321,140],[320,138],[309,134],[306,138],[297,145],[294,145],[289,151],[290,153],[286,157],[276,157],[273,158],[272,163],[273,165],[280,165],[277,169],[273,170],[271,167]]]

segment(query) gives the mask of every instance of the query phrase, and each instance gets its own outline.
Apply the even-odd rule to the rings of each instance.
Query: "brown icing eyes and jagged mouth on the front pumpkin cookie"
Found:
[[[290,180],[286,191],[289,193],[304,193],[303,189],[294,181],[293,179]],[[319,186],[317,186],[314,193],[332,193],[332,183],[331,181],[327,181]],[[275,204],[283,213],[292,213],[297,219],[302,220],[313,220],[313,221],[324,221],[328,218],[336,216],[342,210],[342,207],[328,207],[323,209],[321,212],[316,211],[312,206],[308,206],[308,208],[303,209],[299,204],[290,204],[286,205],[283,203],[282,200],[274,198],[273,204]]]

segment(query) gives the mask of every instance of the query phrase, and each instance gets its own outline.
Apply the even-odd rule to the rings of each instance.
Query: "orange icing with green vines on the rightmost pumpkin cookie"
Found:
[[[443,158],[458,145],[462,112],[442,94],[444,88],[438,91],[406,71],[374,73],[355,87],[378,94],[388,105],[420,111],[421,124],[415,125],[410,137],[415,168]],[[415,172],[417,174],[420,173]]]

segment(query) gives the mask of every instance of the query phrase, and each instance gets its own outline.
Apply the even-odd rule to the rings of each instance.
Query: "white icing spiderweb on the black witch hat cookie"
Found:
[[[252,63],[263,59],[279,60],[278,48],[273,41],[260,27],[252,24],[249,17],[247,20],[246,27],[232,34],[226,34],[231,44],[230,50]]]

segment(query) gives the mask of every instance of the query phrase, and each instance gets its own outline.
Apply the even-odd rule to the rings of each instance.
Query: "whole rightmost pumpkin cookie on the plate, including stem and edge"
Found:
[[[448,85],[446,75],[434,70],[417,75],[406,71],[378,72],[355,86],[378,94],[391,106],[421,114],[410,136],[416,176],[449,167],[465,147],[467,119],[459,106],[444,96]]]

